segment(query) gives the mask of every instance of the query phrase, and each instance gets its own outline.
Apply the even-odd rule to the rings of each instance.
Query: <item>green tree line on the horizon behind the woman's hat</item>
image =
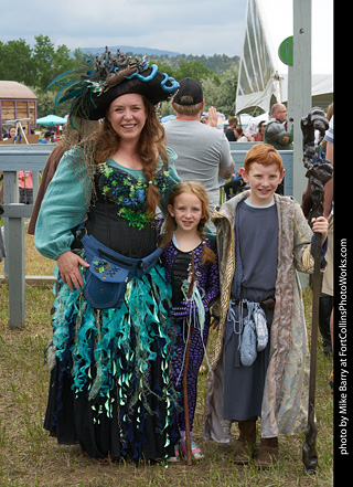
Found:
[[[65,44],[55,49],[47,35],[36,35],[34,40],[33,47],[23,39],[7,43],[0,41],[0,80],[17,81],[32,89],[38,97],[39,118],[54,113],[64,116],[68,112],[67,104],[60,105],[55,110],[57,87],[45,88],[61,73],[81,67],[83,52],[79,49],[71,52]],[[156,63],[161,72],[176,81],[184,77],[199,80],[204,89],[205,109],[214,106],[226,117],[234,115],[238,56],[162,55],[149,56],[149,63]],[[171,104],[163,102],[161,116],[171,113]]]

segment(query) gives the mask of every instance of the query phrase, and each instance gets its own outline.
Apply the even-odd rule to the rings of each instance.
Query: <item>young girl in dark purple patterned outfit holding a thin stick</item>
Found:
[[[188,332],[190,329],[188,404],[192,432],[197,398],[197,374],[207,345],[210,309],[220,294],[216,255],[211,248],[210,240],[205,237],[208,218],[208,195],[203,184],[197,181],[186,181],[173,188],[169,198],[164,233],[161,235],[161,247],[167,282],[172,285],[172,313],[178,330],[173,369],[175,389],[180,392],[178,425],[181,434],[180,449],[183,454],[186,454],[186,446],[182,381]],[[192,456],[195,459],[203,458],[203,453],[193,437]],[[179,451],[175,448],[174,460],[178,459]]]

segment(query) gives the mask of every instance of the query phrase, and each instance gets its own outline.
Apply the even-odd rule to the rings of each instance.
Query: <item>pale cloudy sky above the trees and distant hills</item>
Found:
[[[47,35],[55,47],[143,46],[240,55],[246,0],[15,0],[1,11],[0,41]]]

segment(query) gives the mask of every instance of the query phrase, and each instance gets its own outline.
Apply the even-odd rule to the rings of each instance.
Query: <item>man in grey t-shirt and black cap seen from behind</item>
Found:
[[[178,155],[175,167],[183,181],[200,181],[210,197],[210,212],[220,203],[218,176],[228,179],[233,174],[229,142],[223,130],[201,124],[204,107],[202,84],[197,80],[181,80],[172,99],[176,114],[174,120],[164,124],[169,147]],[[214,229],[208,224],[210,230]]]

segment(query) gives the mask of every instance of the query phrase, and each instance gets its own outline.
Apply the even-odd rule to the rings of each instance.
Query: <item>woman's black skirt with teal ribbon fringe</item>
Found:
[[[58,283],[44,427],[94,458],[160,460],[179,440],[170,287],[157,265],[119,309],[93,309]]]

